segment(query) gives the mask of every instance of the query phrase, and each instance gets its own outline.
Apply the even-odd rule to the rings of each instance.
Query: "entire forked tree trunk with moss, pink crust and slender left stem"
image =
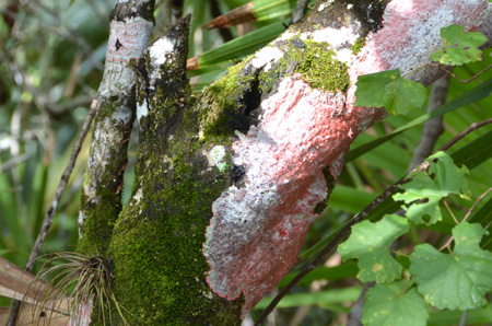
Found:
[[[80,249],[113,261],[130,324],[238,325],[295,263],[351,142],[386,115],[353,105],[356,78],[417,70],[453,23],[490,35],[487,0],[406,1],[321,1],[199,95],[186,78],[189,18],[138,54],[134,70],[136,56],[116,60],[127,70],[112,81],[125,88],[102,93]],[[151,26],[151,1],[118,5],[117,22]],[[438,75],[426,67],[410,78],[429,84]],[[133,115],[136,179],[120,209]]]

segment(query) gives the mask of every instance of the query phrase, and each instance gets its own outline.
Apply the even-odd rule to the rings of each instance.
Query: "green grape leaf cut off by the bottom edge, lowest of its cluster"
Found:
[[[423,326],[429,318],[425,301],[414,288],[403,293],[408,281],[377,284],[365,295],[362,323],[365,326]]]

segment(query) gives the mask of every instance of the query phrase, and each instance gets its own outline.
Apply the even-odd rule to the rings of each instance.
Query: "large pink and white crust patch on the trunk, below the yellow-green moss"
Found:
[[[348,135],[361,131],[351,127],[371,116],[345,112],[341,92],[312,90],[295,75],[261,108],[261,123],[233,147],[234,163],[246,167],[245,185],[213,202],[203,246],[210,288],[229,300],[244,294],[244,312],[294,265],[313,209],[327,196],[323,170],[347,152]]]

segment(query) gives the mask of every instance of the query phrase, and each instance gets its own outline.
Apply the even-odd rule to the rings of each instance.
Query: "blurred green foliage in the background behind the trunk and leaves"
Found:
[[[166,3],[157,2],[153,38],[162,35],[169,25],[169,18],[164,10]],[[200,56],[200,69],[189,72],[197,92],[223,74],[229,66],[283,32],[283,24],[289,21],[295,5],[295,1],[257,0],[254,8],[257,9],[255,15],[258,22],[224,30],[229,32],[200,27],[218,15],[218,12],[226,12],[246,2],[185,1],[185,12],[190,12],[194,16],[190,57]],[[114,1],[106,0],[0,0],[0,13],[3,15],[0,20],[0,255],[17,266],[24,266],[27,260],[31,246],[67,163],[71,144],[92,98],[96,95],[108,36],[107,18],[113,5]],[[9,19],[14,19],[14,23]],[[467,63],[456,68],[454,72],[461,79],[468,79],[492,63],[490,55],[491,50],[487,50],[482,62]],[[458,98],[470,104],[457,105],[456,109],[444,115],[445,131],[436,148],[471,123],[491,117],[490,88],[482,92],[483,100],[472,101],[478,88],[491,79],[491,71],[470,83],[452,79],[448,102]],[[355,140],[352,145],[354,150],[348,155],[348,163],[338,179],[328,208],[306,237],[305,251],[300,256],[300,267],[319,252],[348,218],[362,210],[385,188],[405,175],[420,139],[422,125],[413,124],[415,126],[405,132],[396,132],[393,138],[387,136],[424,115],[424,108],[425,105],[423,108],[410,108],[405,115],[388,117]],[[492,149],[488,145],[492,143],[491,131],[490,126],[481,128],[448,151],[449,154],[455,153],[455,158],[468,158],[468,161],[465,158],[461,162],[467,162],[470,170],[466,181],[471,201],[452,195],[446,199],[449,209],[440,201],[443,214],[441,223],[411,225],[401,240],[399,253],[402,255],[397,257],[403,268],[409,266],[409,258],[405,254],[413,252],[417,245],[430,243],[440,247],[444,244],[456,225],[452,213],[458,220],[462,219],[475,200],[490,187],[492,161],[489,158]],[[374,142],[376,140],[380,142],[377,147]],[[477,140],[481,142],[478,148],[472,149],[471,145]],[[136,155],[137,141],[132,139],[130,163]],[[366,147],[361,148],[363,144]],[[467,149],[471,149],[471,152],[464,152]],[[84,144],[69,188],[62,197],[54,225],[45,241],[46,253],[70,251],[77,245],[80,186],[87,150],[89,141]],[[127,196],[130,194],[131,181],[130,164],[126,176]],[[397,209],[398,206],[387,200],[370,218],[374,222]],[[491,211],[492,199],[489,195],[475,208],[476,213],[470,222],[489,228]],[[477,245],[490,249],[491,240],[491,235],[484,235],[483,241]],[[300,267],[294,268],[279,287],[292,279]],[[355,279],[358,272],[356,261],[342,261],[340,255],[333,255],[281,301],[269,323],[344,324],[347,313],[361,291],[361,283]],[[405,281],[395,282],[391,287],[394,288],[378,290],[398,292],[405,287]],[[408,294],[413,295],[410,292]],[[269,300],[270,298],[262,300],[253,315],[258,315]],[[0,305],[9,303],[0,298]],[[399,304],[407,308],[410,306],[406,302]],[[436,311],[418,304],[414,308],[429,313],[429,325],[456,325],[461,317],[459,310]],[[481,323],[492,323],[490,304],[468,313],[469,325]]]

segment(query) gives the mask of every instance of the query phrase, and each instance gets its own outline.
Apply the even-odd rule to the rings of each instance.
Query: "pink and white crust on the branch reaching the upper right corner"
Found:
[[[391,1],[384,14],[384,28],[368,36],[351,67],[351,81],[390,69],[407,74],[431,62],[430,55],[443,47],[441,28],[452,24],[475,28],[488,5],[487,0]],[[420,81],[427,73],[423,69],[409,78]]]

